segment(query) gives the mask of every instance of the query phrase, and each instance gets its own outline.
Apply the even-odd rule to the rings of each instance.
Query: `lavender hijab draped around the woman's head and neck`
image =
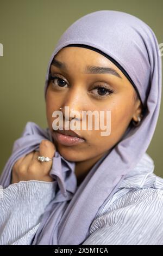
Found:
[[[70,44],[89,45],[115,59],[136,85],[146,112],[139,127],[127,130],[122,140],[90,170],[77,189],[74,162],[57,151],[50,174],[56,195],[48,205],[32,241],[33,245],[79,245],[89,235],[89,227],[99,207],[116,192],[118,184],[146,152],[155,131],[161,102],[161,57],[152,29],[143,21],[121,11],[100,10],[74,22],[62,34],[53,57]],[[9,186],[11,169],[24,154],[38,150],[42,139],[52,141],[49,129],[28,122],[20,139],[14,143],[4,167],[1,185]]]

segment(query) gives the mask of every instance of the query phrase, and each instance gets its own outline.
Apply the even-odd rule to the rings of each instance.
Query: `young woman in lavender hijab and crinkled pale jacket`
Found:
[[[27,123],[1,176],[1,244],[162,245],[163,180],[146,153],[161,102],[152,29],[121,11],[81,17],[51,56],[45,100],[48,128]],[[103,112],[110,134],[95,120],[66,130],[83,111]]]

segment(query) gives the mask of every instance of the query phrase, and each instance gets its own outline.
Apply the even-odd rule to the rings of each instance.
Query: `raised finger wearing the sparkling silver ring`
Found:
[[[55,145],[49,140],[42,140],[40,143],[40,156],[53,158],[55,154]],[[45,170],[51,169],[52,160],[49,162],[40,162]]]

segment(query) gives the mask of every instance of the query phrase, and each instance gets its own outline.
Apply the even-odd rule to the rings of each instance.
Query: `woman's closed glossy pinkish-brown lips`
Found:
[[[57,140],[60,144],[65,146],[73,146],[84,142],[83,138],[68,136],[62,133],[59,133],[58,130],[53,130],[53,139]]]

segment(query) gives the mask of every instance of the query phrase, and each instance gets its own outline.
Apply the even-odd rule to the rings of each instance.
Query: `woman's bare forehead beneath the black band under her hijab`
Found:
[[[64,71],[80,69],[83,73],[112,74],[122,79],[121,70],[107,57],[84,47],[65,47],[54,56],[51,63]]]

